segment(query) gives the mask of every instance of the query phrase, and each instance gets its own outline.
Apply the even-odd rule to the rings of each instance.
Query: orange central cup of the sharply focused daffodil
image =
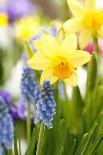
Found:
[[[54,67],[53,75],[60,80],[69,78],[73,74],[73,66],[66,62],[60,62],[59,65]]]

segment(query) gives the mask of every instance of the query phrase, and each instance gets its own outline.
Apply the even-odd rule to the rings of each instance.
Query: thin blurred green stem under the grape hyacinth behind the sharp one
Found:
[[[30,104],[27,108],[27,143],[30,144],[31,139],[31,119],[30,119]]]

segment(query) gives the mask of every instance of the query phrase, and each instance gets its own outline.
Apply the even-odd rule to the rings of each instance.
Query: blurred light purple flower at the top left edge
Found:
[[[23,16],[27,16],[34,12],[34,6],[30,0],[4,0],[5,6],[0,7],[0,10],[7,12],[9,22],[13,22]]]

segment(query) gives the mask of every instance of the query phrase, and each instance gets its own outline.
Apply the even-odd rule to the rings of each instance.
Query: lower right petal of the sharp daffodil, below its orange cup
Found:
[[[76,71],[70,76],[70,78],[67,78],[64,80],[66,84],[69,84],[71,86],[76,86],[78,84],[78,77]]]

